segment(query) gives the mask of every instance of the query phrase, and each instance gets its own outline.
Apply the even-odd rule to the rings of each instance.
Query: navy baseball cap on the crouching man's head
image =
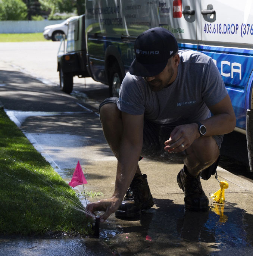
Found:
[[[129,73],[153,77],[163,71],[168,59],[178,51],[174,35],[165,28],[150,28],[140,34],[134,43],[135,59]]]

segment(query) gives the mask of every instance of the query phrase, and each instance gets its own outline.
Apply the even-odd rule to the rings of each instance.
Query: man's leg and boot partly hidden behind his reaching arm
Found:
[[[107,101],[108,100],[109,99],[107,99]],[[101,103],[100,120],[104,137],[113,154],[118,159],[123,123],[121,111],[118,109],[115,102],[116,100],[106,104]],[[115,216],[135,218],[140,215],[141,210],[149,209],[153,205],[153,197],[147,183],[147,175],[142,175],[139,166],[137,166],[135,176],[132,179],[121,206],[115,212]]]

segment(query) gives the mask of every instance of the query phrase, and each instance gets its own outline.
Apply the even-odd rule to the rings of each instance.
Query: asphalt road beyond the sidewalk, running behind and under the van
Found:
[[[59,86],[59,46],[60,42],[53,41],[0,43],[0,60],[49,85]],[[97,108],[103,99],[109,97],[109,89],[107,85],[91,78],[74,77],[72,95]],[[221,167],[253,178],[249,173],[245,135],[238,132],[225,135],[221,153]]]

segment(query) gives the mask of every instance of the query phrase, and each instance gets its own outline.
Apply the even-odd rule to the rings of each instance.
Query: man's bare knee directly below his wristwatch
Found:
[[[219,147],[211,136],[198,138],[186,150],[187,156],[198,160],[200,165],[210,166],[219,156]]]

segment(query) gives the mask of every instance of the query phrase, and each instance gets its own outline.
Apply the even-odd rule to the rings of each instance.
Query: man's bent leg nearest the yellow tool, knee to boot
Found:
[[[184,168],[177,181],[184,191],[186,210],[207,210],[209,200],[200,182],[200,172],[215,163],[219,157],[219,147],[213,137],[199,138],[186,150]]]

